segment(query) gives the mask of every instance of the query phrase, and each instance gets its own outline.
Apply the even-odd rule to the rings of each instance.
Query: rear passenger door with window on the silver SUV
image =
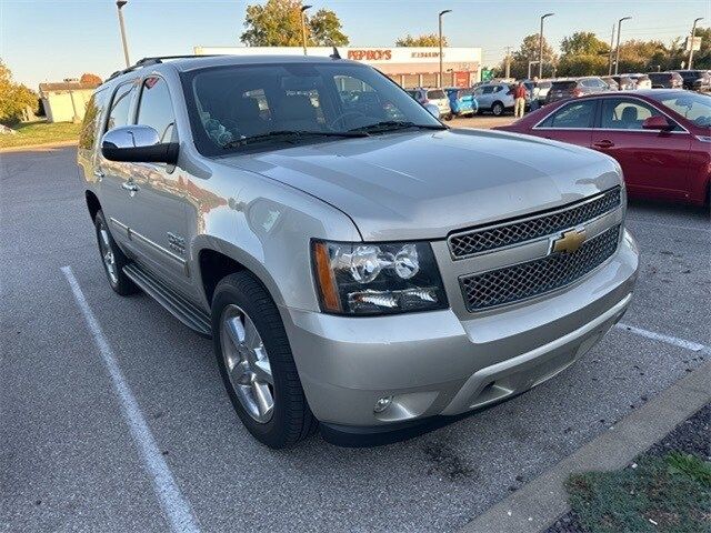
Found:
[[[107,112],[107,120],[102,134],[113,128],[130,123],[138,92],[138,82],[129,81],[120,84],[111,97],[111,103]],[[129,238],[129,224],[132,215],[133,177],[131,168],[133,163],[109,161],[97,154],[96,171],[101,180],[101,209],[107,218],[111,235],[124,249],[133,250]]]

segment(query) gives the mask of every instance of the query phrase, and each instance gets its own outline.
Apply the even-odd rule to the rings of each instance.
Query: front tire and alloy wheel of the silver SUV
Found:
[[[258,441],[281,449],[316,432],[279,310],[251,273],[218,283],[212,341],[232,406]]]

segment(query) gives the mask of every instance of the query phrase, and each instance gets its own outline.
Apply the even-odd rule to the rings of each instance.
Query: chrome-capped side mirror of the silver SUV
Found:
[[[160,142],[149,125],[121,125],[103,134],[101,154],[110,161],[176,164],[178,143]]]

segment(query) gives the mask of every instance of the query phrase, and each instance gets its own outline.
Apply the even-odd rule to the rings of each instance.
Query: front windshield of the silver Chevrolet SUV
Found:
[[[198,150],[320,142],[405,128],[444,128],[407,92],[361,64],[213,67],[182,76]],[[290,135],[291,133],[291,135]]]

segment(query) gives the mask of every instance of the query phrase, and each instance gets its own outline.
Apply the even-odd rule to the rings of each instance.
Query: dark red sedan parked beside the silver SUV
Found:
[[[711,201],[711,97],[679,89],[591,94],[495,129],[607,153],[622,167],[630,195]]]

